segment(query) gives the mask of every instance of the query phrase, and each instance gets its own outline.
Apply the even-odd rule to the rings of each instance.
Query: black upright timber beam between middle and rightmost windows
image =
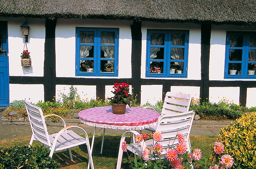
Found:
[[[211,24],[203,23],[201,25],[201,85],[200,101],[209,98],[209,63],[210,63],[210,40]]]

